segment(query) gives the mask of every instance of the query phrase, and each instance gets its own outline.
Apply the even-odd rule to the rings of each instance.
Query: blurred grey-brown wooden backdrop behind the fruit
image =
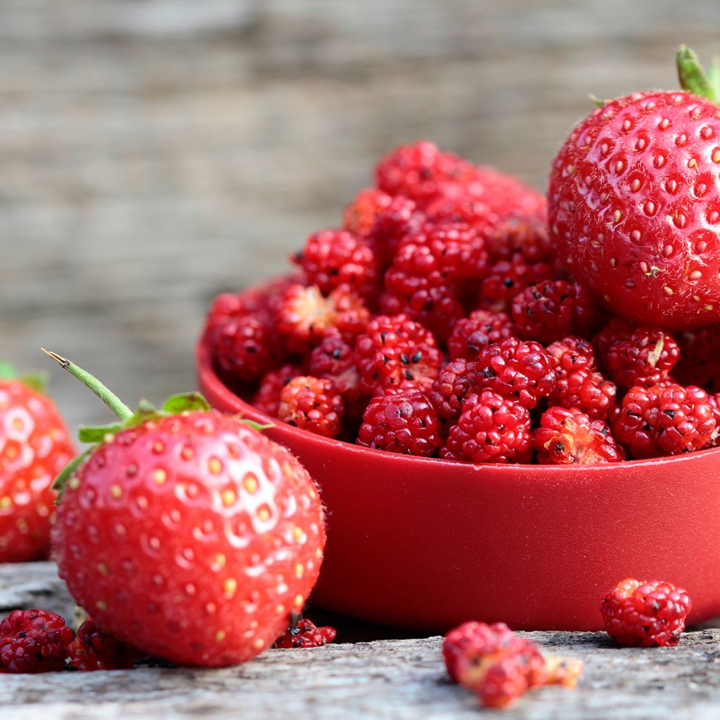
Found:
[[[194,387],[212,296],[285,267],[397,143],[542,188],[600,97],[720,52],[717,0],[0,0],[0,356]]]

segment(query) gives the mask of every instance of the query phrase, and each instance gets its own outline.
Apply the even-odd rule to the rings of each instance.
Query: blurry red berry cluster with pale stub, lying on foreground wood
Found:
[[[580,660],[544,656],[536,644],[504,623],[470,621],[457,626],[444,638],[443,656],[451,680],[491,708],[505,708],[540,685],[573,688],[582,673]]]

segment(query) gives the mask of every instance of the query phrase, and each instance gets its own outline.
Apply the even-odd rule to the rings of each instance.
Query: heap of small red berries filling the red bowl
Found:
[[[420,141],[375,178],[296,274],[215,300],[206,338],[238,395],[312,433],[460,462],[720,443],[720,325],[608,315],[544,197],[498,171]]]

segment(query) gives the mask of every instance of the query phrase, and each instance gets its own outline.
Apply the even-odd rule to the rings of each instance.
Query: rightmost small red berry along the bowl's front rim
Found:
[[[613,419],[613,434],[634,458],[677,455],[711,444],[716,428],[699,387],[631,387]]]

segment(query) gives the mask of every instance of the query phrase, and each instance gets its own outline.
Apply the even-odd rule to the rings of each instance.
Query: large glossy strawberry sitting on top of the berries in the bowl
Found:
[[[549,226],[572,274],[639,325],[720,320],[720,73],[678,52],[685,91],[598,107],[555,158]]]

